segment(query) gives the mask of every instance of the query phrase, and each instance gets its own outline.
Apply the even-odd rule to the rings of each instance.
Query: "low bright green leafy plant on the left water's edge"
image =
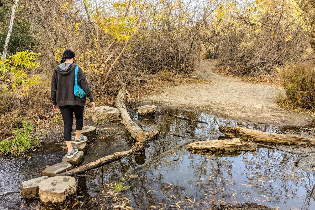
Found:
[[[34,130],[33,123],[26,121],[22,123],[22,128],[17,128],[12,132],[15,135],[14,139],[0,141],[0,153],[18,156],[40,146],[39,140],[31,136]]]

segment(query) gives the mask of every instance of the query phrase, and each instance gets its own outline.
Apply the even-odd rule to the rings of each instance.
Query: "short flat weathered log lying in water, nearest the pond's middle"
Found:
[[[211,141],[196,141],[187,145],[188,150],[196,151],[243,151],[256,150],[257,144],[242,139],[218,139]]]

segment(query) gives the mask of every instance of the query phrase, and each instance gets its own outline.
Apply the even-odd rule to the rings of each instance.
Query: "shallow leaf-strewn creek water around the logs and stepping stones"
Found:
[[[177,119],[166,112],[206,121],[209,124]],[[312,124],[304,128],[257,125],[176,110],[160,109],[154,119],[138,119],[135,110],[131,110],[131,116],[147,131],[161,129],[160,137],[149,142],[146,148],[135,156],[125,157],[80,175],[78,189],[86,198],[100,196],[104,184],[181,142],[199,137],[221,138],[223,134],[218,131],[221,124],[239,125],[273,133],[297,133],[310,137],[314,134]],[[185,133],[186,129],[195,133]],[[185,136],[187,139],[173,136],[171,133]],[[128,137],[96,139],[89,146],[83,164],[116,151],[127,150],[130,145]],[[160,202],[169,205],[164,209],[175,209],[176,202],[181,208],[209,209],[214,204],[248,201],[279,209],[314,209],[315,192],[312,192],[312,189],[315,186],[315,171],[311,166],[314,164],[314,150],[292,148],[312,155],[295,166],[293,162],[299,156],[291,156],[279,150],[259,148],[246,153],[195,154],[182,148],[148,170],[140,172],[137,178],[123,181],[124,185],[130,188],[122,193],[131,200],[129,206],[135,209],[148,209],[148,205],[163,207]],[[20,191],[21,181],[39,176],[46,165],[59,162],[64,154],[60,146],[50,145],[33,152],[30,159],[1,158],[0,191]],[[76,199],[84,204],[95,202],[91,199]],[[3,202],[0,202],[0,207],[1,205]],[[84,205],[82,208],[84,209]]]

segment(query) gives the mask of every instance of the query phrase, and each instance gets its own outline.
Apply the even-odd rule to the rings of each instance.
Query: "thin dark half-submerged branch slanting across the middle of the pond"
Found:
[[[141,171],[141,170],[143,170],[143,169],[145,169],[145,168],[151,166],[152,164],[154,164],[154,163],[160,161],[163,157],[165,157],[165,156],[166,156],[167,154],[169,154],[170,152],[173,152],[174,150],[179,149],[179,148],[181,148],[182,146],[185,146],[186,144],[192,143],[192,142],[195,141],[195,140],[196,140],[196,139],[190,139],[190,140],[185,141],[185,142],[183,142],[183,143],[181,143],[181,144],[179,144],[179,145],[176,145],[176,146],[172,147],[171,149],[167,150],[166,152],[163,152],[162,154],[158,155],[158,156],[155,157],[154,159],[152,159],[152,160],[150,160],[150,161],[148,161],[148,162],[146,162],[146,163],[140,165],[139,167],[136,167],[135,169],[132,169],[132,170],[130,170],[130,171],[124,173],[123,175],[121,175],[121,176],[119,176],[119,177],[116,177],[114,180],[118,180],[118,179],[122,178],[124,175],[127,175],[127,174],[137,173],[137,172],[139,172],[139,171]]]

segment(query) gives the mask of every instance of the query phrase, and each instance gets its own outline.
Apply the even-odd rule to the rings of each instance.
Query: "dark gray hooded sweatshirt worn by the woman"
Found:
[[[84,106],[86,97],[94,102],[93,96],[84,73],[78,67],[78,81],[77,84],[85,91],[86,96],[79,98],[73,94],[74,89],[74,75],[76,65],[72,63],[62,63],[55,67],[53,77],[51,78],[51,102],[53,105],[79,105]]]

